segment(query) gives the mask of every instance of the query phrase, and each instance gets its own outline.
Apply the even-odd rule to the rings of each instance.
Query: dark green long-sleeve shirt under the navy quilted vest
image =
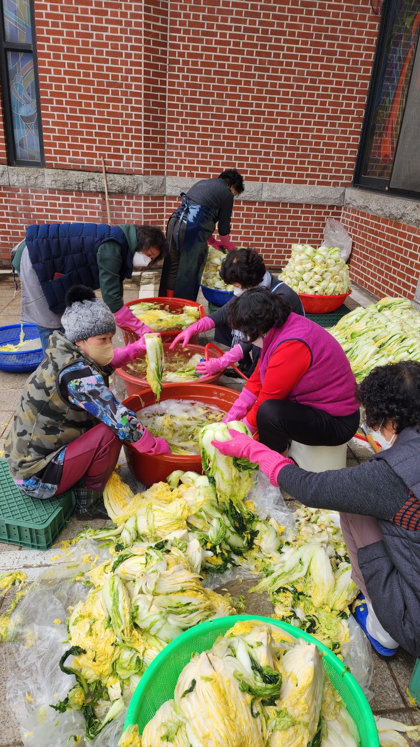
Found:
[[[128,241],[128,247],[131,253],[137,251],[137,229],[136,226],[119,226],[125,234],[125,238]],[[22,258],[23,250],[25,249],[25,241],[18,247],[16,254],[13,258],[13,267],[19,272],[20,261]],[[96,255],[96,261],[98,262],[99,269],[99,288],[101,289],[102,299],[113,314],[122,308],[122,283],[119,279],[119,271],[121,270],[121,248],[116,241],[104,241],[103,244],[98,248]],[[93,290],[98,290],[93,288]]]

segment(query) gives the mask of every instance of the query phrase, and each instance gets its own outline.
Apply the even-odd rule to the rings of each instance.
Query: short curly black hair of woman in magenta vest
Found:
[[[229,305],[228,325],[243,332],[249,342],[283,326],[292,306],[267,288],[250,288]]]

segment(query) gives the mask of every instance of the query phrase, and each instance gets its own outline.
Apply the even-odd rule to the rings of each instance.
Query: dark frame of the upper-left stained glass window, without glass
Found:
[[[37,37],[35,31],[35,11],[34,0],[29,0],[31,10],[31,29],[32,41],[28,42],[6,42],[4,41],[4,24],[3,24],[3,0],[0,0],[0,73],[1,73],[1,103],[4,112],[4,136],[6,140],[7,162],[10,166],[28,166],[43,168],[45,166],[44,143],[43,143],[43,124],[41,120],[41,102],[40,102],[40,85],[38,78],[38,60],[37,60]],[[40,161],[24,161],[22,158],[15,158],[14,138],[13,138],[13,116],[10,102],[10,87],[7,77],[7,52],[31,52],[34,58],[34,77],[35,77],[35,100],[37,102],[37,119],[38,119],[38,137],[40,138]]]

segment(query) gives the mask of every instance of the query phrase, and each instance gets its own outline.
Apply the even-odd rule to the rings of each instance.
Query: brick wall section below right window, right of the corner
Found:
[[[420,228],[344,208],[353,238],[351,277],[379,296],[413,299],[420,274]]]

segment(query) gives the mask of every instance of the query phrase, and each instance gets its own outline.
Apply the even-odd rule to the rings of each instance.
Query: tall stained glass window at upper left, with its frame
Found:
[[[32,0],[0,0],[1,83],[10,164],[43,165]]]

